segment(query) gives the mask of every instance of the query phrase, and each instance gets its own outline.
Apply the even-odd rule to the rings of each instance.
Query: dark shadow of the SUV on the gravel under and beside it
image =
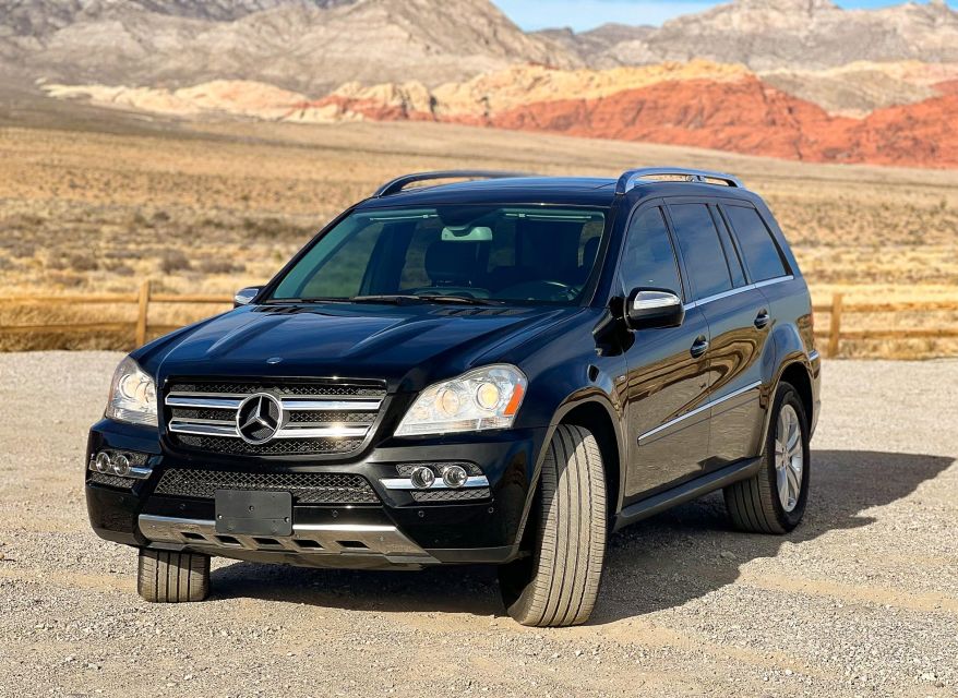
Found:
[[[612,535],[590,624],[679,606],[732,583],[740,566],[773,557],[785,543],[872,524],[866,512],[901,500],[954,460],[863,450],[813,450],[812,495],[803,524],[787,535],[741,533],[721,493],[684,504]],[[251,598],[379,613],[504,615],[495,570],[438,567],[360,571],[233,563],[213,573],[214,598]]]

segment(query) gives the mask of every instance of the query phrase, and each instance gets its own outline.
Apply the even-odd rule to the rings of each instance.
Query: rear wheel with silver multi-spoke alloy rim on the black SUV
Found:
[[[776,442],[779,441],[782,424],[791,423],[792,418],[798,430],[798,441],[793,443],[793,450],[786,449],[785,455],[781,455],[776,450]],[[790,454],[801,457],[801,472],[795,471],[795,459]],[[794,529],[801,522],[809,502],[811,465],[805,408],[794,387],[782,383],[778,386],[773,402],[762,469],[749,480],[735,482],[725,489],[726,508],[735,528],[752,533],[777,534]],[[779,489],[780,473],[786,479],[787,492]],[[795,483],[798,493],[792,489]]]

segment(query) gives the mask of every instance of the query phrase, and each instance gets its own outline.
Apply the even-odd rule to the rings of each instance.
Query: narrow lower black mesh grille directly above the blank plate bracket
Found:
[[[155,494],[213,500],[217,490],[290,492],[297,504],[379,504],[362,476],[336,472],[225,472],[167,470]]]

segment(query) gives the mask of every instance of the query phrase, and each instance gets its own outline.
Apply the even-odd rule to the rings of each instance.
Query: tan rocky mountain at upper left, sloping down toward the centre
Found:
[[[352,80],[436,85],[578,62],[484,0],[0,2],[0,69],[55,82],[256,80],[322,94]]]

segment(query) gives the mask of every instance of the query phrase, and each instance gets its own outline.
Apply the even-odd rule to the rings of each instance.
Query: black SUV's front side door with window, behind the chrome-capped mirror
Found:
[[[659,206],[633,215],[619,277],[624,296],[657,288],[687,299]],[[626,505],[694,477],[708,452],[708,326],[702,311],[691,306],[680,327],[638,330],[633,339],[625,357]]]

